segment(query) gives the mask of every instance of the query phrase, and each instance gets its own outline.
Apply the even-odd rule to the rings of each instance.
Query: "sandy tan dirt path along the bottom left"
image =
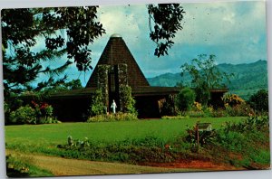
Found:
[[[15,153],[7,150],[6,154],[27,160],[30,164],[52,172],[56,176],[63,175],[89,175],[89,174],[147,174],[147,173],[170,173],[192,172],[196,169],[152,167],[141,165],[124,165],[118,163],[92,162],[87,160],[65,159],[47,155],[29,155]]]

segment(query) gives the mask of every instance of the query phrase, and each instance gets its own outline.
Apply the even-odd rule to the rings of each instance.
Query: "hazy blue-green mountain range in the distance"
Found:
[[[218,68],[220,71],[234,74],[230,78],[229,93],[238,94],[243,99],[248,99],[258,89],[268,89],[267,61],[259,60],[235,65],[222,63]],[[189,84],[191,79],[189,74],[181,77],[180,73],[165,73],[147,80],[151,86],[174,87],[181,80],[183,84]]]

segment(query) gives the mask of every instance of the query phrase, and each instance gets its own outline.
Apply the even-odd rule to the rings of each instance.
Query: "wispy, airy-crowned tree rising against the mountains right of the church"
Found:
[[[216,88],[226,88],[230,76],[224,71],[219,71],[216,66],[215,55],[201,54],[198,59],[191,60],[191,63],[183,64],[181,76],[189,73],[191,77],[191,87],[195,88],[197,101],[207,105],[209,101],[209,90]]]

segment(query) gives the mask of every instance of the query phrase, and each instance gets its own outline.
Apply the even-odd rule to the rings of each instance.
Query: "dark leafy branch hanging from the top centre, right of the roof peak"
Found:
[[[148,5],[150,37],[156,42],[154,55],[168,55],[168,50],[174,44],[172,39],[182,29],[181,21],[185,11],[179,4]],[[154,23],[154,27],[152,27]]]

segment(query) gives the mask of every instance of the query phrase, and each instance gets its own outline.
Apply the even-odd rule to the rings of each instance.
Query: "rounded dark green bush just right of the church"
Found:
[[[181,89],[176,98],[176,105],[181,111],[189,110],[196,99],[196,94],[192,89]]]

